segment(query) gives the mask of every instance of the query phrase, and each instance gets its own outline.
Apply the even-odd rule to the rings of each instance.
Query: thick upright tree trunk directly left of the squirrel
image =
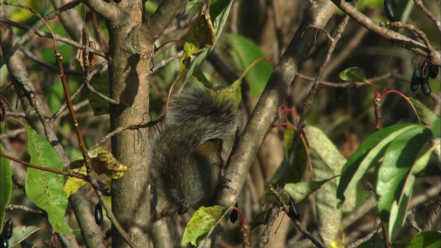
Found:
[[[110,32],[110,92],[121,102],[110,107],[112,130],[148,120],[149,68],[154,44],[132,41],[143,20],[141,1],[124,1],[119,8],[127,15],[125,21],[109,23]],[[143,42],[138,44],[136,42]],[[147,43],[147,44],[145,44]],[[129,52],[131,51],[131,52]],[[112,209],[125,231],[139,247],[147,247],[150,225],[150,180],[148,173],[148,130],[125,130],[112,138],[112,153],[127,165],[124,176],[112,183]],[[127,244],[113,231],[112,247]]]

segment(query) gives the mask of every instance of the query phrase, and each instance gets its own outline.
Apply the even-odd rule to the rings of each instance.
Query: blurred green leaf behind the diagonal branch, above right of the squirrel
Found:
[[[246,70],[256,59],[265,58],[263,51],[253,41],[237,34],[225,34],[225,37],[227,37],[232,52],[234,52],[233,55],[236,55],[238,65],[242,70]],[[245,79],[247,79],[249,90],[254,96],[262,94],[272,72],[272,66],[266,61],[256,63],[247,72]]]

